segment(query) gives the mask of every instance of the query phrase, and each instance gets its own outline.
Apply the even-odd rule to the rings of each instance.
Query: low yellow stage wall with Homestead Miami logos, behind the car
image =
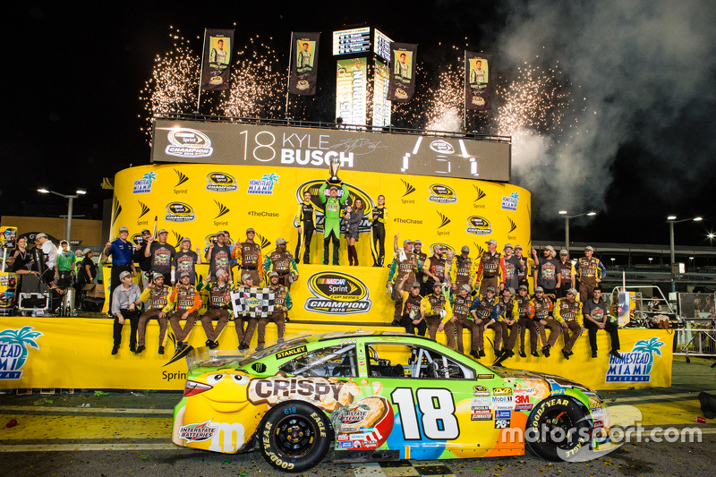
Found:
[[[110,354],[112,323],[112,319],[0,318],[0,388],[183,388],[186,362],[179,359],[169,363],[174,355],[171,339],[167,340],[166,353],[157,353],[159,328],[156,321],[149,323],[148,349],[141,355],[129,351],[129,324],[124,327],[119,353]],[[330,325],[291,321],[286,324],[286,336],[306,330],[322,333],[357,327],[349,319]],[[367,325],[362,328],[402,331],[402,328],[389,326]],[[276,327],[269,325],[267,341],[276,337]],[[595,389],[670,387],[673,337],[669,330],[620,330],[624,362],[614,362],[609,357],[606,332],[598,334],[601,351],[597,359],[591,358],[589,342],[584,335],[575,345],[575,354],[569,361],[565,360],[559,353],[562,346],[562,338],[559,338],[550,358],[533,358],[528,354],[524,359],[516,355],[507,360],[505,366],[563,376]],[[469,334],[465,333],[464,338],[467,352]],[[486,348],[490,348],[491,331],[486,338]],[[188,341],[193,346],[203,346],[206,339],[198,323]],[[256,345],[256,339],[254,335],[251,345]],[[228,324],[218,341],[221,349],[236,349],[238,342],[233,322]],[[444,334],[439,334],[439,341],[445,343]],[[527,346],[529,348],[529,342]],[[489,349],[486,351],[488,356],[481,362],[490,364],[493,356]]]

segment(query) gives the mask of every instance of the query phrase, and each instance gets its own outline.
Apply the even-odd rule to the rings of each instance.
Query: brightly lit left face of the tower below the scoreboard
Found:
[[[336,117],[342,117],[343,124],[366,124],[367,86],[366,58],[337,61]]]

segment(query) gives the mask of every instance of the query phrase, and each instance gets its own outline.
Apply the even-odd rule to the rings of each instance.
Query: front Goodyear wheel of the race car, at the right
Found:
[[[592,422],[574,400],[551,396],[537,405],[524,430],[533,454],[550,461],[568,460],[589,441]]]

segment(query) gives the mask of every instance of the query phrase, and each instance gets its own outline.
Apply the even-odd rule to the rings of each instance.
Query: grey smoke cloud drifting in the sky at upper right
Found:
[[[711,1],[513,0],[505,8],[500,69],[558,62],[575,105],[560,135],[516,133],[513,173],[533,192],[533,215],[603,209],[625,146],[647,151],[646,182],[674,200],[712,169],[714,122],[703,121],[716,104]]]

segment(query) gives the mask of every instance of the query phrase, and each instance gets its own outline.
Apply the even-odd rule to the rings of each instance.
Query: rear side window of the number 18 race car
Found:
[[[355,345],[328,346],[303,353],[278,369],[296,376],[357,378]]]

